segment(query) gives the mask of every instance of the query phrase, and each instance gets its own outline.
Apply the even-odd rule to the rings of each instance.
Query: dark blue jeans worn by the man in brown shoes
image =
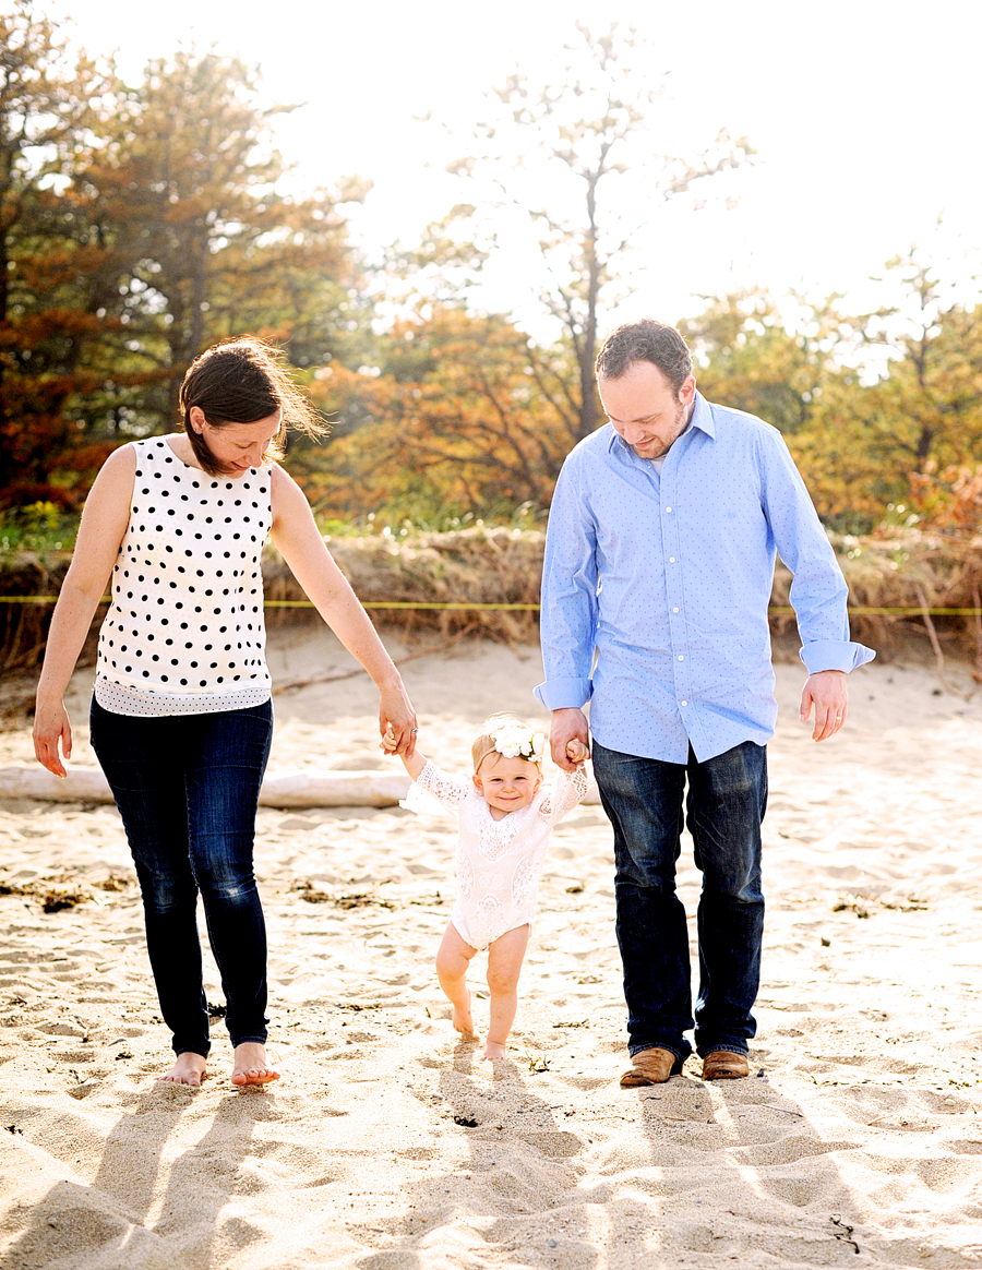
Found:
[[[592,743],[593,772],[614,826],[617,942],[628,1001],[628,1049],[659,1046],[680,1060],[692,1052],[689,931],[675,889],[682,796],[699,897],[696,1050],[747,1053],[757,1025],[751,1008],[760,984],[763,937],[761,820],[767,806],[767,751],[744,742],[724,754],[666,763]]]

